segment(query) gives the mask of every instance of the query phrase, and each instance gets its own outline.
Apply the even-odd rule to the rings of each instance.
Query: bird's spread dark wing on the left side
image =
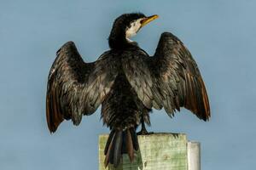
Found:
[[[108,65],[108,66],[106,66]],[[90,115],[101,105],[117,76],[115,62],[108,52],[85,63],[73,42],[58,51],[48,77],[46,116],[50,132],[64,120],[79,125],[83,115]]]

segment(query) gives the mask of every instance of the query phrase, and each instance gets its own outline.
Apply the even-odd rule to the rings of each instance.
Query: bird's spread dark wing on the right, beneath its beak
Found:
[[[207,121],[210,106],[200,71],[177,37],[164,32],[153,57],[126,59],[123,68],[139,99],[147,107],[165,108],[169,116],[185,107]]]

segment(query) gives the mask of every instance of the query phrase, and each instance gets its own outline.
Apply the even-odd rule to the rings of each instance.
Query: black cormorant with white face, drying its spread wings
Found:
[[[49,71],[46,117],[50,133],[64,120],[78,126],[82,116],[102,105],[101,118],[110,133],[105,146],[105,167],[118,167],[123,154],[132,162],[139,150],[137,135],[149,134],[152,109],[168,116],[184,107],[208,121],[211,112],[201,72],[183,42],[163,32],[150,56],[131,40],[157,14],[122,14],[113,22],[109,50],[95,62],[85,62],[74,42],[57,52]],[[137,133],[137,127],[142,129]]]

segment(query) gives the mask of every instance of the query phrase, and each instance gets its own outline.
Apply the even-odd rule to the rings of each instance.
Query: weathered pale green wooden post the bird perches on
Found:
[[[99,169],[113,170],[113,166],[104,167],[103,150],[108,135],[99,137]],[[154,133],[138,136],[140,150],[131,163],[124,155],[115,170],[188,170],[187,137],[183,133]]]

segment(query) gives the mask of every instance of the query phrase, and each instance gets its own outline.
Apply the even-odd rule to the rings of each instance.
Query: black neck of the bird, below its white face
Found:
[[[108,37],[109,48],[125,49],[137,46],[137,42],[129,41],[125,36],[125,31],[111,31]]]

